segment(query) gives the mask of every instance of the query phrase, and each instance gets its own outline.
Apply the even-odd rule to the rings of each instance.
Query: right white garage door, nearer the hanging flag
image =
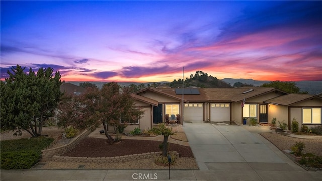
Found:
[[[230,103],[211,103],[210,121],[230,121]]]

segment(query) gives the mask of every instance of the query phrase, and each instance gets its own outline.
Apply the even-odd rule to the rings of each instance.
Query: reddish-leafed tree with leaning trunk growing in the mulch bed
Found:
[[[104,84],[102,89],[89,87],[80,96],[66,100],[69,100],[68,104],[60,107],[60,110],[63,110],[60,115],[64,115],[60,117],[60,121],[64,120],[63,126],[85,128],[97,127],[102,123],[110,144],[114,143],[114,138],[108,134],[108,125],[120,124],[121,118],[138,120],[144,114],[144,111],[135,106],[130,90],[122,89],[115,82]]]

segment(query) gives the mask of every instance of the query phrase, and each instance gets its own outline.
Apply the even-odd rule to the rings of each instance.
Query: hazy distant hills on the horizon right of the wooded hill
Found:
[[[253,79],[233,79],[233,78],[224,78],[222,81],[229,83],[233,86],[234,83],[241,82],[254,86],[261,86],[264,83],[269,83],[271,81],[260,81]],[[301,91],[307,91],[309,94],[316,95],[322,93],[322,81],[296,81],[296,86],[301,89]]]

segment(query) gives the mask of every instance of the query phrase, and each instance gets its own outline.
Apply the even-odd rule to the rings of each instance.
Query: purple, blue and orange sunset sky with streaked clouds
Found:
[[[1,1],[1,79],[322,81],[322,1]]]

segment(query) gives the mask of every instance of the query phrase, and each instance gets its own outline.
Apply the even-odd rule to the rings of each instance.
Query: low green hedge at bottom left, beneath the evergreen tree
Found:
[[[28,169],[39,162],[41,150],[54,141],[53,138],[31,138],[0,142],[1,169]]]

